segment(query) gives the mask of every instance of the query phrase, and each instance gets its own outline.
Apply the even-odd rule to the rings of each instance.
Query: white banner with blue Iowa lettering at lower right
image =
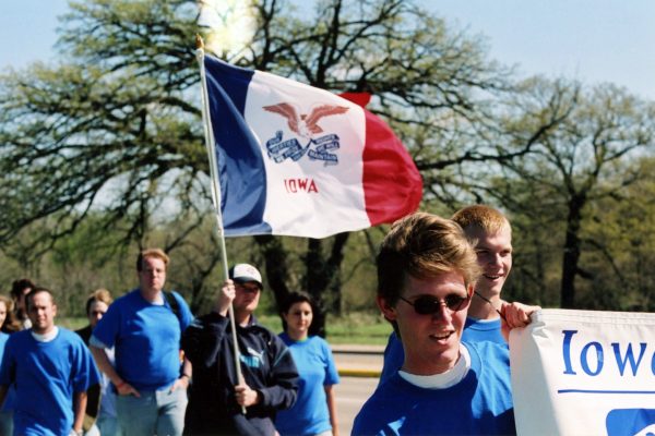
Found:
[[[543,310],[510,358],[519,435],[655,434],[655,314]]]

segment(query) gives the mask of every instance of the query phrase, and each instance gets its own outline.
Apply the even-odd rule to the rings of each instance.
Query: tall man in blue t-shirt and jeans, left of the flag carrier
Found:
[[[193,316],[180,294],[164,291],[168,262],[158,249],[139,254],[139,288],[109,306],[90,341],[118,393],[116,412],[126,436],[175,436],[184,427],[192,374],[191,362],[180,364],[180,338]]]

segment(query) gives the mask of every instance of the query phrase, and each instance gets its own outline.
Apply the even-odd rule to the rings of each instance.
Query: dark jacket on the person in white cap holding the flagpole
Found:
[[[217,313],[196,318],[182,335],[184,355],[193,364],[193,383],[184,433],[190,435],[274,435],[275,412],[296,401],[298,371],[290,351],[251,317],[237,326],[241,373],[261,401],[241,413],[229,318]]]

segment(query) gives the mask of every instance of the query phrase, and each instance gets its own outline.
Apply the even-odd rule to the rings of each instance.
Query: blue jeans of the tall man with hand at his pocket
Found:
[[[141,397],[116,396],[123,436],[180,436],[184,429],[187,389],[142,390]]]

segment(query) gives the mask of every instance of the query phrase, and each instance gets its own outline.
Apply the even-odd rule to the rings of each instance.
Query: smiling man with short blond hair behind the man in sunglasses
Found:
[[[462,334],[463,341],[489,340],[505,344],[501,334],[498,308],[503,303],[502,287],[512,269],[512,227],[498,209],[473,205],[457,210],[451,218],[458,223],[468,240],[475,243],[483,274],[475,286],[475,295]],[[403,344],[395,332],[389,337],[380,383],[384,383],[403,364]]]

